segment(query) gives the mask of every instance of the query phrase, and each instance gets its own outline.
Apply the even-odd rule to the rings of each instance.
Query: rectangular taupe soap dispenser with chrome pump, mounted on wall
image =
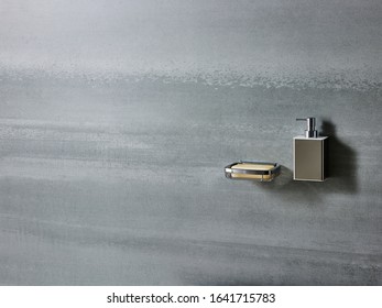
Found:
[[[323,182],[328,176],[328,138],[318,136],[316,119],[306,121],[305,135],[293,139],[293,179]]]

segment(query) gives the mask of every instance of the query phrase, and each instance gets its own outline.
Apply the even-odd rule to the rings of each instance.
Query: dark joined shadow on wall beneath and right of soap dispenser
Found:
[[[285,191],[287,199],[316,202],[321,194],[356,194],[357,153],[336,135],[336,125],[324,120],[321,135],[329,136],[329,177],[324,183],[293,180],[293,170],[282,166],[281,175],[271,183],[254,183],[266,190]],[[307,191],[309,191],[307,194]]]

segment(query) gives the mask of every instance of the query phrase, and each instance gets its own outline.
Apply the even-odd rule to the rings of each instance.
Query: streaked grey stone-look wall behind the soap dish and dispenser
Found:
[[[379,0],[0,0],[0,284],[381,285],[381,53]]]

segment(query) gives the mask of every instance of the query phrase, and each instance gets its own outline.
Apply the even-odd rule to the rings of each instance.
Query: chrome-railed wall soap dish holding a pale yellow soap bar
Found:
[[[240,161],[226,166],[225,174],[227,178],[271,182],[280,175],[280,170],[281,166],[276,163]]]

